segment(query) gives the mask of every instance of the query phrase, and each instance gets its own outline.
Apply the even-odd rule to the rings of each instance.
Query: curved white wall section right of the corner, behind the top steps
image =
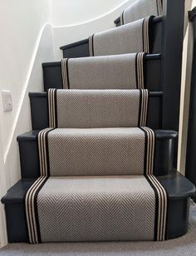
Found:
[[[62,57],[59,47],[115,27],[115,18],[133,2],[135,0],[52,0],[51,17],[56,61]]]

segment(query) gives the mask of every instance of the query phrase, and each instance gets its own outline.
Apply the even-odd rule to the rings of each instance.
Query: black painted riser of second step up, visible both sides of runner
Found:
[[[173,170],[174,140],[177,133],[170,130],[154,130],[156,135],[154,175],[168,175]],[[40,176],[37,148],[37,130],[17,137],[20,151],[22,178]]]

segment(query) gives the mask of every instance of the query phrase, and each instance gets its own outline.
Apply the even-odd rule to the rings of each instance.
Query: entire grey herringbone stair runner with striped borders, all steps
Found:
[[[132,11],[133,19],[159,15],[160,1],[136,2],[123,22]],[[169,198],[154,176],[155,135],[146,127],[152,18],[96,33],[91,58],[61,61],[64,89],[47,91],[40,177],[24,200],[30,243],[168,238]]]

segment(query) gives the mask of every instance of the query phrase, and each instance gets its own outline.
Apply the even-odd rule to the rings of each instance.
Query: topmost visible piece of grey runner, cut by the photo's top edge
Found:
[[[135,22],[150,15],[162,15],[163,8],[161,0],[137,0],[127,7],[120,15],[120,24]]]

